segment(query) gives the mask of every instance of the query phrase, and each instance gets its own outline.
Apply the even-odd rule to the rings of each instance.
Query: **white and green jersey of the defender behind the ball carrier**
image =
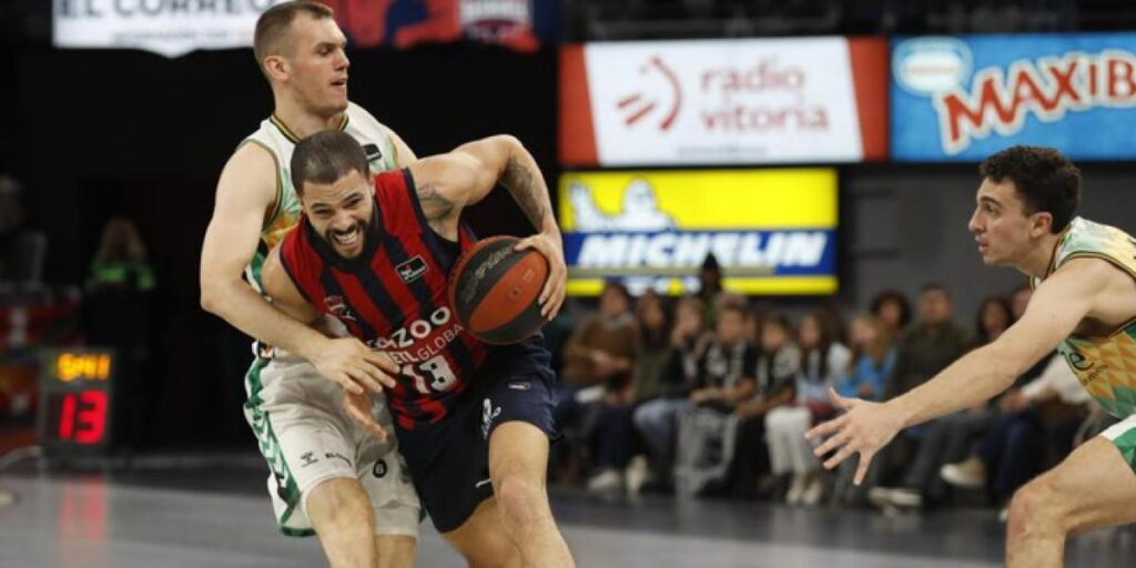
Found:
[[[371,173],[398,167],[391,137],[375,117],[362,107],[353,102],[348,103],[348,110],[343,114],[343,120],[337,128],[353,136],[364,147]],[[287,125],[273,115],[260,123],[257,132],[241,142],[242,145],[252,143],[268,150],[276,162],[276,199],[272,209],[265,215],[264,225],[260,227],[260,244],[245,268],[249,283],[258,291],[264,290],[260,267],[264,266],[268,251],[300,220],[302,208],[300,198],[292,186],[292,173],[289,166],[292,162],[292,151],[299,141]]]

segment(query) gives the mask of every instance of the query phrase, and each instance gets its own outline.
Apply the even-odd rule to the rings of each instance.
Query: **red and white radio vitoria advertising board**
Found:
[[[887,154],[880,37],[588,43],[561,51],[576,166],[854,162]]]

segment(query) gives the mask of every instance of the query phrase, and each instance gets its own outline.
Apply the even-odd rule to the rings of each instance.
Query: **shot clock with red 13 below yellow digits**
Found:
[[[40,444],[49,458],[95,457],[111,442],[112,350],[45,349],[40,367]]]

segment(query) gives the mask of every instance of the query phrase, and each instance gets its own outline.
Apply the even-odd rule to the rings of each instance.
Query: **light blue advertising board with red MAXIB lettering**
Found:
[[[1136,33],[900,37],[892,73],[896,160],[1136,157]]]

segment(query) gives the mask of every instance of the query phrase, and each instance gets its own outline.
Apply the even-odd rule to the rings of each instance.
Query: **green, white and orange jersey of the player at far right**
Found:
[[[1109,225],[1077,217],[1062,232],[1046,277],[1075,258],[1099,258],[1136,278],[1136,240]],[[1034,285],[1042,283],[1035,279]],[[1058,351],[1085,390],[1110,414],[1136,414],[1136,308],[1133,318],[1102,336],[1070,335]]]

